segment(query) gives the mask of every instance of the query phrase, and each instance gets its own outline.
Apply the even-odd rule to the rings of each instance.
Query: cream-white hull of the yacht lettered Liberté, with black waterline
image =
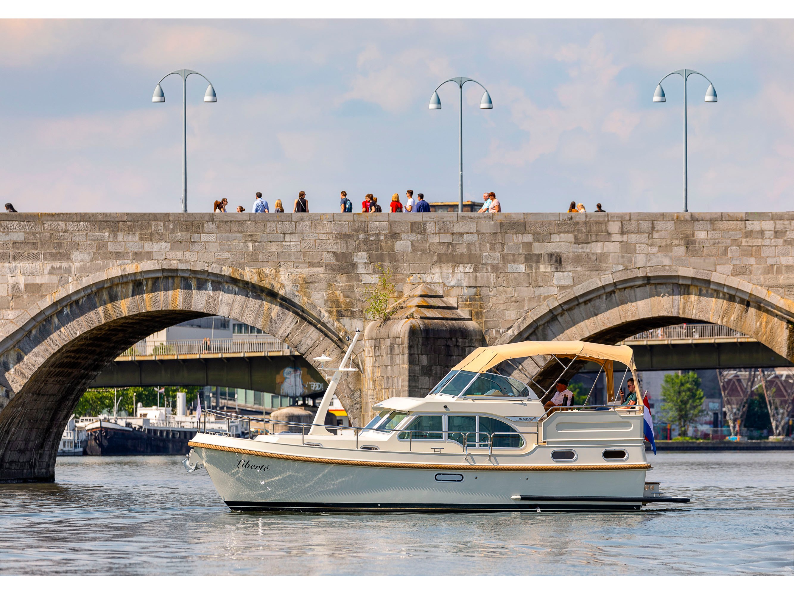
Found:
[[[248,449],[198,443],[191,443],[191,446],[196,451],[191,456],[201,460],[218,493],[233,510],[638,510],[642,506],[646,470],[649,468],[647,464],[571,465],[548,470],[545,468],[548,466],[499,466],[492,463],[438,466],[350,461],[327,463],[308,456],[259,455]],[[541,496],[525,500],[522,494],[527,493]],[[554,499],[549,499],[549,496]],[[604,500],[599,501],[599,496]],[[561,497],[570,499],[559,499]],[[621,500],[621,497],[626,497],[626,500]]]

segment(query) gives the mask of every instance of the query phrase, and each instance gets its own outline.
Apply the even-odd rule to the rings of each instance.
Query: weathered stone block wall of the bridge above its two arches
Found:
[[[126,263],[256,270],[364,328],[373,263],[470,309],[489,343],[621,271],[706,271],[794,298],[794,213],[0,213],[0,339],[37,302]]]

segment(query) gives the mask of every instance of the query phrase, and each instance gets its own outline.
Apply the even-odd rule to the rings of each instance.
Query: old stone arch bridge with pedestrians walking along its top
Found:
[[[794,359],[794,213],[0,213],[0,480],[51,481],[61,429],[145,336],[221,315],[307,361],[364,341],[354,423],[474,347],[722,324]],[[377,266],[387,321],[364,319]]]

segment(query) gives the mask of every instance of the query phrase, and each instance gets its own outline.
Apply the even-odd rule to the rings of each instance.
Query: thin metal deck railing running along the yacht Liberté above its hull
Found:
[[[312,441],[315,435],[311,435],[309,432],[311,428],[324,428],[328,432],[333,435],[339,435],[338,432],[348,433],[353,432],[353,435],[356,438],[356,450],[360,450],[363,448],[364,450],[374,450],[372,448],[368,448],[367,444],[363,446],[359,446],[361,435],[364,432],[382,432],[382,433],[391,433],[391,432],[398,432],[399,434],[407,434],[408,435],[408,450],[413,451],[414,447],[414,440],[418,443],[426,443],[429,440],[445,440],[445,443],[457,443],[460,444],[462,447],[463,454],[468,457],[469,455],[469,448],[488,448],[488,459],[491,459],[493,456],[493,449],[498,448],[511,448],[511,449],[518,449],[522,448],[524,445],[520,447],[503,447],[499,446],[499,443],[494,444],[494,437],[511,437],[511,436],[518,436],[521,440],[526,440],[524,436],[534,436],[534,441],[531,444],[540,444],[542,443],[542,424],[545,420],[549,419],[553,413],[557,412],[564,412],[564,413],[589,413],[591,411],[609,411],[609,410],[619,410],[621,415],[640,415],[642,416],[642,405],[636,405],[634,407],[621,407],[619,405],[573,405],[571,407],[552,407],[548,411],[545,412],[544,415],[541,417],[532,418],[530,421],[534,422],[535,429],[530,430],[529,432],[461,432],[461,431],[454,431],[454,430],[407,430],[407,429],[397,429],[397,428],[358,428],[353,426],[338,426],[338,425],[326,425],[326,424],[306,424],[300,421],[289,421],[289,420],[268,420],[262,417],[249,417],[240,415],[239,413],[230,413],[226,411],[217,411],[214,409],[206,409],[206,414],[202,416],[202,420],[204,423],[203,426],[203,433],[212,433],[215,435],[221,436],[236,436],[232,432],[231,425],[233,422],[238,422],[241,424],[241,427],[248,428],[248,439],[249,440],[256,440],[256,436],[261,436],[262,434],[293,434],[293,435],[300,435],[301,436],[301,443],[307,446],[312,446]],[[212,428],[210,426],[210,431],[207,432],[206,427],[206,417],[212,415],[215,418],[215,422],[217,423],[218,420],[226,420],[226,431],[223,432],[218,431],[216,428]],[[212,422],[210,422],[212,424]],[[261,425],[262,432],[255,434],[253,432],[254,428],[257,425]],[[280,428],[287,428],[286,431],[279,431],[276,432],[276,426]],[[293,428],[295,431],[293,431]],[[199,429],[201,429],[201,425],[199,424]],[[414,436],[419,436],[418,438],[414,438]],[[309,440],[306,440],[306,436],[309,437]],[[428,436],[441,436],[440,439],[429,438]],[[445,436],[445,438],[444,438]],[[450,438],[450,436],[461,436],[462,441],[455,440],[454,438]],[[473,440],[469,440],[469,437],[473,437]],[[486,440],[483,440],[483,436],[486,437]],[[420,442],[421,441],[421,442]],[[526,440],[528,442],[528,440]]]

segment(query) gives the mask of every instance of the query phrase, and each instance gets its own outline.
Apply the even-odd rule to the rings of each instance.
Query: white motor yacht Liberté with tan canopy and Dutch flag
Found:
[[[615,363],[625,367],[623,379],[630,374],[639,386],[630,347],[580,341],[480,347],[426,397],[380,402],[365,428],[325,426],[341,374],[358,372],[345,367],[357,339],[333,370],[314,424],[290,422],[290,432],[250,440],[198,432],[186,468],[204,466],[234,510],[636,510],[649,502],[688,502],[661,497],[658,483],[646,482],[642,404],[549,402],[557,381],[584,363],[599,367],[615,399],[615,373],[622,371]],[[540,372],[526,372],[529,359]]]

